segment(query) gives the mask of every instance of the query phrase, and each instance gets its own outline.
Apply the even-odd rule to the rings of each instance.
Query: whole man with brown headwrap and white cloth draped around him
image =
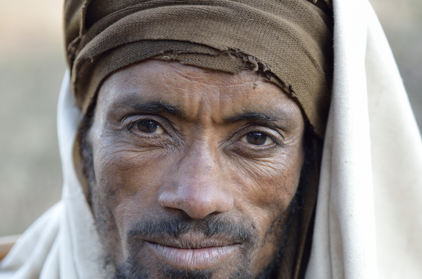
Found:
[[[4,276],[417,278],[422,144],[356,2],[65,2],[63,199]]]

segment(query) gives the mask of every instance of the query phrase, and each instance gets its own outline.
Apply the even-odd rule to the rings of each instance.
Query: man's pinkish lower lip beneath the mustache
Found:
[[[146,241],[163,260],[180,268],[209,268],[233,254],[240,244],[203,248],[179,248]]]

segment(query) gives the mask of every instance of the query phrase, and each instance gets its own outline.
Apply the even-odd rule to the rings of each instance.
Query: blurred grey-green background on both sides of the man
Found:
[[[371,0],[422,127],[422,0]],[[0,236],[59,201],[62,1],[0,0]]]

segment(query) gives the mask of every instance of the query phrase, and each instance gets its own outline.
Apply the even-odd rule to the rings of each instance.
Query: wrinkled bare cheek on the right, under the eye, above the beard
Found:
[[[261,240],[295,195],[303,164],[301,150],[232,165],[235,207],[256,225]]]

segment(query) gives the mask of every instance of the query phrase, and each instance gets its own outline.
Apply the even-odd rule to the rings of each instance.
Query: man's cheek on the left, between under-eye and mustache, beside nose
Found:
[[[121,232],[141,212],[157,207],[158,190],[172,165],[163,150],[131,151],[123,144],[110,144],[94,155],[97,186]]]

